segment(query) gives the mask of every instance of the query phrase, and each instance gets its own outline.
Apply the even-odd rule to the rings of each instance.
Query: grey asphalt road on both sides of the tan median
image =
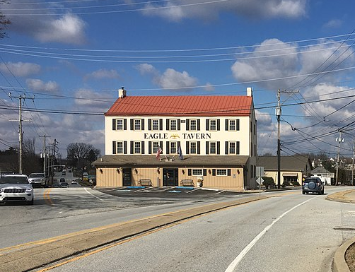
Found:
[[[1,247],[245,197],[202,190],[35,193],[34,206],[0,207]],[[355,234],[355,206],[301,191],[265,195],[273,197],[139,235],[52,271],[331,271],[335,249]]]

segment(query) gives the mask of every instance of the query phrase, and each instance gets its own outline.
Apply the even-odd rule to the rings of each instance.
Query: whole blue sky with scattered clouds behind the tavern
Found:
[[[354,141],[355,2],[307,0],[11,0],[0,40],[0,149],[24,139],[91,143],[104,155],[103,115],[128,95],[245,95],[254,90],[258,153],[350,156]],[[346,97],[342,99],[342,97]],[[349,104],[349,105],[347,105]],[[354,102],[355,104],[355,102]],[[64,114],[64,112],[75,114]],[[94,113],[93,115],[83,114]]]

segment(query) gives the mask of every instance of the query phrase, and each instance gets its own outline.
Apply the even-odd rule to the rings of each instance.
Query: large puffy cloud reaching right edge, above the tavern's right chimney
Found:
[[[301,76],[354,64],[353,49],[340,42],[327,45],[325,42],[331,40],[322,40],[319,45],[303,48],[277,39],[265,40],[248,56],[243,55],[244,59],[235,61],[231,71],[239,82],[260,81],[258,85],[272,90],[295,88],[302,83],[307,85],[307,83],[334,80],[335,76],[340,75],[339,73]],[[340,45],[342,48],[336,50]]]

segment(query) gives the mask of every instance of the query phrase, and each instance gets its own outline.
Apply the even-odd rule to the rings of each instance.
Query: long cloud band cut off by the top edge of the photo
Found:
[[[252,20],[260,18],[300,18],[305,16],[306,0],[234,0],[208,3],[202,0],[169,1],[165,4],[147,4],[144,14],[178,21],[184,18],[211,20],[222,12],[236,13]],[[186,5],[186,6],[184,6]]]

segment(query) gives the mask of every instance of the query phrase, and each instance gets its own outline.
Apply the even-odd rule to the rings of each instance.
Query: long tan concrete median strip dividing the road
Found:
[[[75,232],[61,237],[52,237],[49,240],[28,243],[22,247],[13,247],[12,252],[10,247],[8,248],[10,252],[0,254],[1,271],[30,271],[112,242],[154,230],[158,227],[262,199],[267,199],[267,196],[250,196],[235,201],[211,203],[183,211],[154,215],[149,218],[98,227],[96,229]]]

